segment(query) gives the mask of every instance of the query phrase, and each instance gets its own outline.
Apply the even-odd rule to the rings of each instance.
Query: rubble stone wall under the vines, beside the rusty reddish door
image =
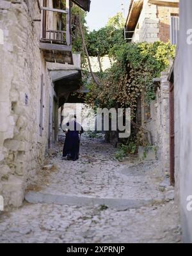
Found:
[[[168,73],[161,72],[157,86],[156,100],[150,102],[150,116],[145,116],[145,102],[141,102],[141,122],[152,134],[152,143],[157,146],[157,157],[161,159],[162,173],[166,175],[170,168],[170,119],[169,119],[169,82]]]

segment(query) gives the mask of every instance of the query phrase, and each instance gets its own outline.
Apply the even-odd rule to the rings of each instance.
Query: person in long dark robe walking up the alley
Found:
[[[76,161],[79,159],[80,138],[81,134],[84,132],[83,127],[76,122],[76,116],[74,116],[74,120],[68,122],[65,127],[66,131],[64,132],[66,137],[63,147],[63,157],[67,156],[67,160]]]

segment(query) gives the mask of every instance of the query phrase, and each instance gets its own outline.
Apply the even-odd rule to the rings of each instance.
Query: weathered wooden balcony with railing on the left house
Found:
[[[40,49],[44,52],[45,61],[72,65],[70,1],[66,1],[66,10],[47,6],[41,9],[43,22]],[[63,24],[65,28],[62,28]]]

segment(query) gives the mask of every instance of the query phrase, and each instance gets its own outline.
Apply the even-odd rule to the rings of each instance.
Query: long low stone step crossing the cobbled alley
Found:
[[[92,196],[75,196],[75,195],[52,195],[40,192],[29,191],[25,200],[30,204],[59,204],[59,205],[76,205],[76,206],[98,206],[106,205],[111,209],[125,211],[126,209],[140,208],[152,204],[153,200],[132,200],[132,199],[115,199],[115,198],[95,198]]]

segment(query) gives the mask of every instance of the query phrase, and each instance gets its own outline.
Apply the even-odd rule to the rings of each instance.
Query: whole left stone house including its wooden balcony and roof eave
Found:
[[[90,8],[89,0],[73,2]],[[22,204],[57,140],[60,88],[68,82],[65,66],[74,64],[71,5],[70,0],[0,1],[0,195],[5,205]],[[52,79],[57,63],[65,71],[60,84]],[[73,83],[81,79],[77,69],[77,76],[70,74]]]

